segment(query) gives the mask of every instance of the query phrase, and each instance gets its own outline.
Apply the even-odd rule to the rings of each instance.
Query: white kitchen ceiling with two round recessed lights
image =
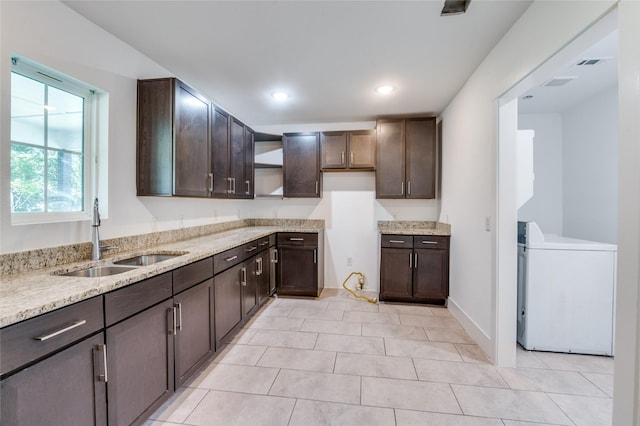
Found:
[[[64,3],[260,126],[440,113],[531,2],[446,17],[442,0]]]

